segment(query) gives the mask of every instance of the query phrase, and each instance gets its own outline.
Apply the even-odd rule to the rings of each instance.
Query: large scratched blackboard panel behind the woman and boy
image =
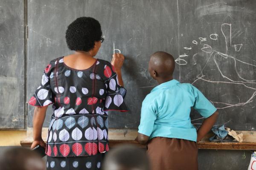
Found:
[[[217,124],[254,130],[255,8],[253,0],[29,0],[28,96],[48,62],[72,52],[64,38],[68,24],[90,16],[105,36],[96,57],[110,61],[113,43],[126,57],[130,112],[110,113],[111,127],[137,128],[141,103],[157,85],[147,71],[150,54],[166,51],[175,57],[175,79],[195,85],[219,109]],[[29,107],[29,126],[32,113]],[[196,126],[203,120],[195,111],[191,119]]]

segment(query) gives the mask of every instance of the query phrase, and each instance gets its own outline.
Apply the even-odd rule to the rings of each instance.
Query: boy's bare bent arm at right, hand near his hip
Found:
[[[204,119],[201,127],[197,131],[197,142],[201,141],[203,137],[211,130],[212,126],[215,124],[218,118],[218,111],[215,111],[212,116]]]

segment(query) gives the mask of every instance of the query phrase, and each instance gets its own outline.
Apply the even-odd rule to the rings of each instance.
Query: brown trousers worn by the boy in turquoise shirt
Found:
[[[151,170],[198,170],[196,142],[155,137],[147,146]]]

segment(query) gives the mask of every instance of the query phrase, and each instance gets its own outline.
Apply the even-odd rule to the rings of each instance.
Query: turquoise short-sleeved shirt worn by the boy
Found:
[[[190,120],[191,107],[204,118],[217,109],[193,85],[175,79],[162,83],[148,94],[141,108],[139,133],[195,141],[197,132]]]

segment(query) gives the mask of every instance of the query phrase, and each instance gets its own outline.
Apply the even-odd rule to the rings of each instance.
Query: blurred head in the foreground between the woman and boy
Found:
[[[103,170],[150,170],[150,168],[145,150],[124,145],[107,153]]]

